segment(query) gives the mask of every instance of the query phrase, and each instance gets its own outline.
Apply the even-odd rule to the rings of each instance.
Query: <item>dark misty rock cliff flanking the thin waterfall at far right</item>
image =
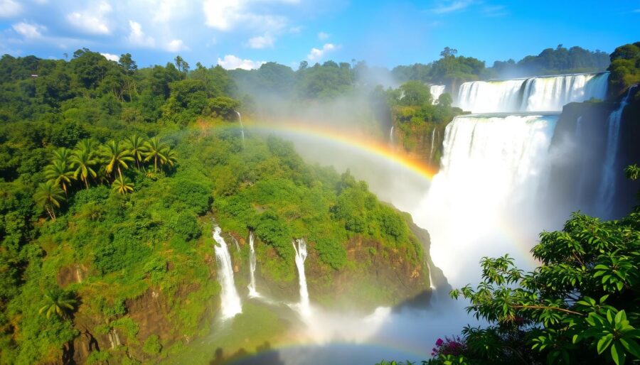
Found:
[[[640,162],[640,93],[624,109],[620,123],[616,155],[615,202],[611,218],[620,217],[635,205],[638,182],[624,178],[626,166]],[[550,153],[555,158],[550,170],[553,202],[575,207],[587,214],[599,215],[598,192],[602,182],[607,150],[608,120],[619,104],[571,103],[565,105],[558,119]]]

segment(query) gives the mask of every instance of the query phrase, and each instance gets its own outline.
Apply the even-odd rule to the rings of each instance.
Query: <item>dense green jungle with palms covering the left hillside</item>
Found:
[[[87,336],[110,342],[89,362],[179,352],[215,312],[214,219],[241,241],[255,231],[267,280],[293,281],[301,236],[325,285],[370,265],[346,254],[357,237],[380,245],[371,258],[422,267],[405,217],[364,182],[306,165],[273,136],[241,138],[229,73],[175,61],[1,58],[1,363],[67,361]],[[370,299],[400,299],[384,290]],[[165,331],[130,311],[147,293],[165,303],[152,319]]]

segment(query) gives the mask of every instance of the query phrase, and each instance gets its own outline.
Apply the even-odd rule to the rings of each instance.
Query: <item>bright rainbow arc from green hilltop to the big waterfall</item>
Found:
[[[248,126],[250,129],[265,132],[284,132],[287,134],[294,134],[297,136],[311,136],[315,138],[321,138],[324,140],[340,143],[348,148],[357,148],[360,151],[370,153],[373,156],[383,158],[391,163],[402,165],[407,170],[420,175],[422,178],[431,181],[437,171],[428,165],[424,160],[418,158],[412,158],[402,151],[396,151],[396,149],[388,146],[386,143],[380,143],[379,141],[372,141],[370,138],[362,138],[357,135],[347,136],[344,132],[336,131],[326,127],[311,126],[309,124],[299,123],[279,123],[269,125],[256,125]]]

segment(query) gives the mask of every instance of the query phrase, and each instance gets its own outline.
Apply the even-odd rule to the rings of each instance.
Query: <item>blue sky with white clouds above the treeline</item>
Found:
[[[0,53],[64,58],[87,47],[139,66],[297,67],[366,60],[393,67],[445,46],[485,60],[640,40],[640,0],[0,0]]]

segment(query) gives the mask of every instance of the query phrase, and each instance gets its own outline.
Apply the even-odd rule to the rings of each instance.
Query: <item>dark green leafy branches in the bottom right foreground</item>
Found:
[[[640,168],[626,169],[631,179]],[[466,327],[456,352],[427,364],[607,364],[640,359],[640,208],[619,221],[572,214],[531,250],[540,266],[482,258],[481,283],[452,290],[490,323]],[[447,347],[442,347],[447,349]]]

